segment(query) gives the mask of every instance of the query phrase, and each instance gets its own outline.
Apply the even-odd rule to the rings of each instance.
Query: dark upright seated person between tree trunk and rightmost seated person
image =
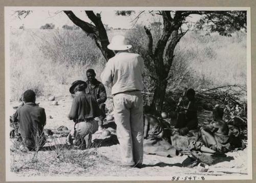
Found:
[[[198,118],[197,118],[197,105],[195,100],[196,92],[194,89],[189,88],[186,91],[186,97],[188,99],[187,107],[181,107],[180,110],[185,111],[185,119],[180,124],[177,123],[175,128],[178,128],[178,133],[180,135],[186,135],[189,130],[196,130],[198,128]]]

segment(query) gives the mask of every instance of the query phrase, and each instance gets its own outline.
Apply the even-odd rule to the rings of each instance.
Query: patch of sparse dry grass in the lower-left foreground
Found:
[[[97,148],[74,149],[74,146],[63,144],[60,138],[53,138],[53,142],[47,143],[41,150],[23,152],[17,147],[11,156],[11,171],[23,176],[82,174],[96,166],[97,162],[114,164],[98,154]]]

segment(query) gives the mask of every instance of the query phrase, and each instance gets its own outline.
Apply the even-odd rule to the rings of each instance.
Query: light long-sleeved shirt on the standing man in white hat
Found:
[[[109,59],[104,71],[101,73],[101,81],[104,85],[111,85],[111,94],[124,91],[142,90],[142,73],[144,60],[139,54],[121,51]]]

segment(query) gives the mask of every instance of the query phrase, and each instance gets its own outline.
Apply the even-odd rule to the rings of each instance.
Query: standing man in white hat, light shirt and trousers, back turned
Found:
[[[121,148],[122,165],[127,168],[142,166],[143,162],[143,89],[144,61],[138,54],[129,53],[124,36],[114,36],[108,49],[111,58],[101,74],[104,85],[112,86],[114,118]]]

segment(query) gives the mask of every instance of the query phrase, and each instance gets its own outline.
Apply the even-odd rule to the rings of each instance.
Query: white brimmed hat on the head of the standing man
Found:
[[[108,45],[108,49],[113,50],[115,53],[129,50],[130,48],[132,48],[132,45],[127,44],[127,40],[122,35],[114,36]]]

